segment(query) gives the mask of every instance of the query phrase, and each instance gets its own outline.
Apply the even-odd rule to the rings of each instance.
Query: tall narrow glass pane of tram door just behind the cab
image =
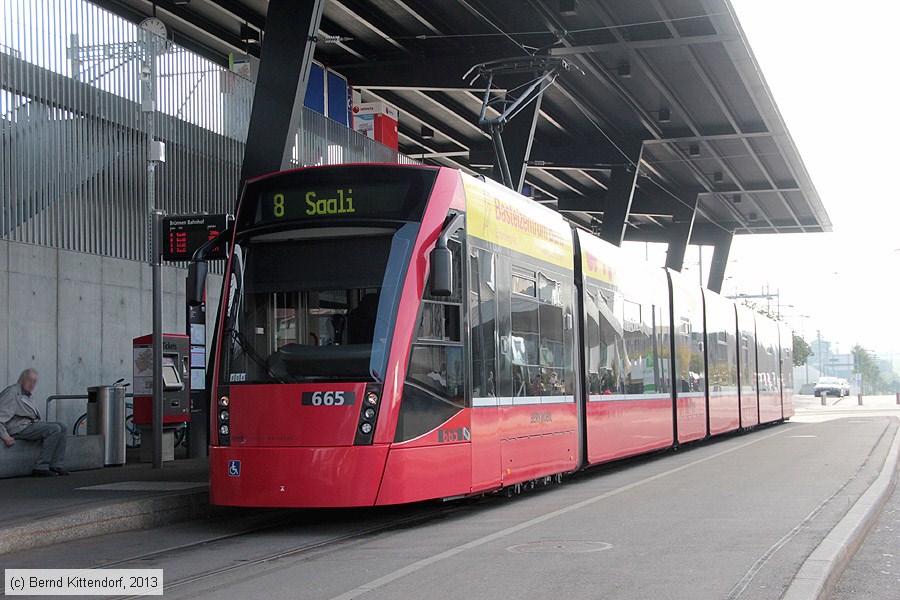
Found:
[[[497,286],[494,254],[473,248],[469,256],[469,323],[472,330],[472,395],[497,395]]]

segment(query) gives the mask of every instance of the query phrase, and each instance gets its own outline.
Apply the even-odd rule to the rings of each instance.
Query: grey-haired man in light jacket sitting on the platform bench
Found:
[[[68,475],[62,467],[66,457],[66,429],[61,423],[41,421],[32,398],[37,377],[34,369],[25,369],[18,383],[0,392],[0,439],[7,447],[14,446],[16,440],[41,440],[41,455],[31,474],[35,477]]]

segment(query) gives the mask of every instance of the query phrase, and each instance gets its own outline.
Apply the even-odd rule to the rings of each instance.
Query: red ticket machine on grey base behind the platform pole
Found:
[[[153,336],[134,338],[134,424],[141,462],[153,461]],[[163,460],[175,458],[175,430],[190,420],[190,338],[163,334]]]

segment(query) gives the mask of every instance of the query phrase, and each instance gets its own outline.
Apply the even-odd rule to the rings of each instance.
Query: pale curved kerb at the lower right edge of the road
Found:
[[[831,593],[891,497],[898,464],[900,427],[894,432],[881,473],[806,558],[781,600],[824,600]]]

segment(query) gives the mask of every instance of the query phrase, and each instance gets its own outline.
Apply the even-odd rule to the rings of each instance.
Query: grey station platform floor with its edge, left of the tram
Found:
[[[207,514],[208,462],[178,460],[0,480],[0,555]]]

